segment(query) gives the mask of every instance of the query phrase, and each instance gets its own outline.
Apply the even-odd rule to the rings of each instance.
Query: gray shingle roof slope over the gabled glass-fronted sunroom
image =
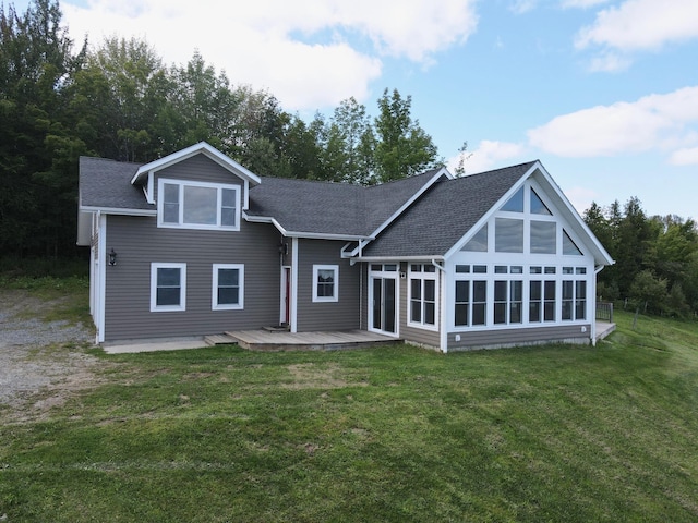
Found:
[[[446,254],[534,163],[435,183],[363,250],[363,256]]]

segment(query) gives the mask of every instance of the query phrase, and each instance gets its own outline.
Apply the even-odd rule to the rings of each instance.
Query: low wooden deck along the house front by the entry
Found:
[[[278,332],[260,329],[236,330],[206,337],[208,344],[237,343],[253,351],[338,351],[401,341],[366,330]]]

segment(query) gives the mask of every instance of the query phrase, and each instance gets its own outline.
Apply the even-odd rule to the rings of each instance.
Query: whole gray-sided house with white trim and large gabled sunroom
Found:
[[[362,187],[258,177],[206,143],[80,160],[97,341],[288,326],[443,352],[595,340],[613,263],[540,161]]]

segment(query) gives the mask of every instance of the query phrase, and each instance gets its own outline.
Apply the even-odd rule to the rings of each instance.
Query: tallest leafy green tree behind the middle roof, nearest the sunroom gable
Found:
[[[412,98],[388,89],[378,98],[380,113],[374,126],[376,178],[380,182],[411,177],[436,165],[437,149],[432,138],[412,121]]]

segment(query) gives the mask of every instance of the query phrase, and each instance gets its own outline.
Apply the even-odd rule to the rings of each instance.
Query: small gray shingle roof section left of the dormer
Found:
[[[131,185],[141,163],[80,157],[80,206],[111,209],[155,209],[143,190]]]

